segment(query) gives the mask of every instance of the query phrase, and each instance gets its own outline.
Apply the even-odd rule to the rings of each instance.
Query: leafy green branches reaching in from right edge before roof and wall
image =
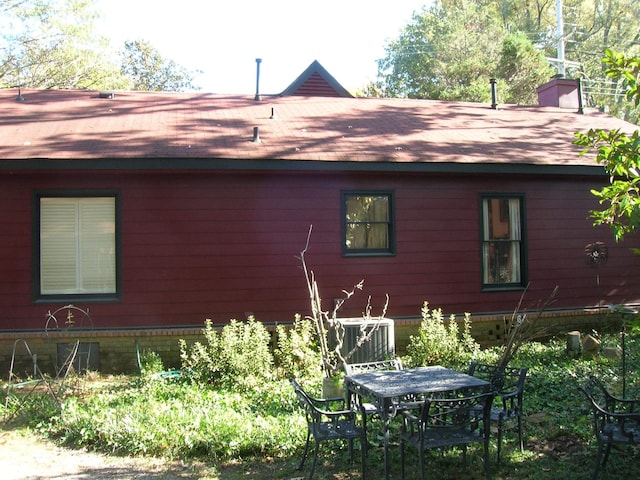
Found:
[[[640,104],[640,57],[607,50],[603,60],[606,74],[626,85],[626,98]],[[610,176],[609,185],[592,190],[603,210],[594,210],[595,225],[608,225],[616,241],[640,228],[640,134],[621,130],[591,129],[576,133],[574,143],[586,147],[582,154],[596,149],[596,160]]]

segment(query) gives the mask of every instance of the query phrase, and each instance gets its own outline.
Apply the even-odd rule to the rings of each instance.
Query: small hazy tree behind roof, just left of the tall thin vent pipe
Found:
[[[145,40],[128,41],[121,55],[121,72],[133,90],[197,90],[193,73],[160,52]]]

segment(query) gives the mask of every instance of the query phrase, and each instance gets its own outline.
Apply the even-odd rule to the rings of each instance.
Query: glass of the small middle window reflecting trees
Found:
[[[349,250],[390,248],[388,195],[345,197],[345,245]]]

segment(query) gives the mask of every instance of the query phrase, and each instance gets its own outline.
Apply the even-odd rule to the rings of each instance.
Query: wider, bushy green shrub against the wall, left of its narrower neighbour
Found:
[[[205,343],[191,348],[180,340],[182,368],[195,382],[249,390],[273,378],[271,336],[261,322],[233,319],[218,332],[207,319],[203,334]]]

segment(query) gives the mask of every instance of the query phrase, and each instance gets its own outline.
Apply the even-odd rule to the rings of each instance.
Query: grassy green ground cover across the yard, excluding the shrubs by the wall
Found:
[[[640,398],[640,338],[627,338],[627,397]],[[612,336],[605,340],[615,343],[619,339]],[[498,355],[497,350],[486,350],[479,360],[495,361]],[[492,463],[493,478],[591,478],[595,440],[587,403],[576,387],[595,373],[620,393],[620,360],[570,358],[564,342],[552,340],[526,344],[511,364],[529,367],[525,451],[521,453],[516,447],[515,429],[507,430],[502,464]],[[46,392],[32,396],[22,413],[12,418],[12,424],[26,426],[72,448],[204,461],[206,473],[198,478],[289,480],[303,476],[296,467],[306,425],[286,379],[243,393],[198,387],[157,375],[94,375],[79,379],[76,387],[65,397],[61,409],[52,404]],[[10,404],[2,412],[0,407],[0,412],[6,417],[16,413],[12,408]],[[493,460],[495,453],[494,443]],[[391,447],[390,458],[392,478],[399,478],[397,446]],[[407,478],[419,478],[415,458],[409,451]],[[470,447],[467,465],[458,450],[434,453],[429,457],[428,473],[439,479],[483,478],[481,458],[475,446]],[[614,450],[602,478],[635,478],[637,465],[637,450]],[[382,450],[374,447],[367,458],[367,475],[378,479],[382,473]],[[350,464],[345,448],[323,445],[314,478],[361,478],[359,453],[355,452]]]

